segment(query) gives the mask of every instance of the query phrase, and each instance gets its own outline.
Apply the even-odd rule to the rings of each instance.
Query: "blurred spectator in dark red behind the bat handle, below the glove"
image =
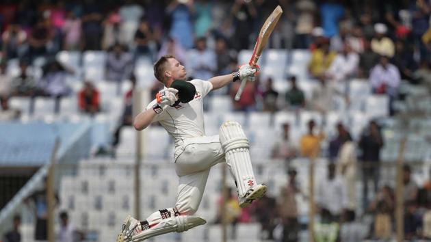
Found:
[[[232,83],[229,94],[232,99],[234,111],[254,111],[256,109],[257,88],[255,82],[256,81],[247,81],[242,91],[241,98],[238,101],[235,100],[235,95],[241,85],[241,81]]]

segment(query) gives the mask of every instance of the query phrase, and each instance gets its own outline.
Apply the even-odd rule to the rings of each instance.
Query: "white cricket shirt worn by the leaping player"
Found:
[[[158,121],[164,126],[174,139],[175,146],[183,144],[184,138],[205,135],[203,98],[213,89],[213,85],[209,81],[199,79],[194,79],[190,83],[196,88],[193,100],[189,103],[179,103],[176,107],[168,106],[153,119],[153,122]],[[154,99],[146,109],[153,109],[156,102]]]

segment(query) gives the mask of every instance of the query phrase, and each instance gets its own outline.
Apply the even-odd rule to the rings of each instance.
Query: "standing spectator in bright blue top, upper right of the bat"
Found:
[[[338,23],[344,15],[344,8],[335,0],[326,1],[320,5],[320,16],[322,16],[322,27],[325,36],[331,38],[338,34]]]

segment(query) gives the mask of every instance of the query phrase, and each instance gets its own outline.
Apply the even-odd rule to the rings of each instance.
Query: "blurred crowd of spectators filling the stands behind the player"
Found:
[[[389,115],[396,114],[393,105],[399,98],[402,80],[423,85],[431,93],[431,3],[428,0],[235,0],[235,1],[3,1],[0,4],[1,63],[0,120],[16,120],[20,111],[8,107],[12,96],[77,95],[82,113],[103,111],[101,90],[91,79],[80,77],[83,89],[73,93],[66,75],[75,70],[55,59],[59,51],[106,51],[104,81],[121,83],[130,80],[131,90],[125,94],[125,111],[114,134],[118,144],[122,126],[131,124],[131,93],[135,83],[133,64],[140,57],[155,61],[171,54],[189,69],[190,78],[209,79],[233,72],[238,66],[237,54],[252,49],[265,18],[276,5],[283,8],[280,23],[267,46],[271,49],[305,49],[311,52],[309,79],[317,83],[307,98],[295,75],[285,75],[289,88],[280,92],[273,79],[248,83],[235,111],[318,111],[325,115],[335,109],[335,96],[351,104],[348,94],[336,88],[352,78],[368,81],[374,94],[389,97]],[[42,75],[36,78],[34,65],[39,57],[46,60]],[[18,59],[20,72],[10,76],[8,62]],[[148,77],[154,79],[154,77]],[[155,81],[153,92],[162,88]],[[233,96],[239,83],[233,83],[224,95]],[[58,103],[59,103],[58,102]],[[56,112],[61,112],[56,105]],[[373,217],[368,234],[372,239],[388,239],[394,225],[393,187],[379,183],[380,149],[384,146],[378,122],[369,122],[357,140],[349,127],[337,124],[337,135],[328,137],[313,120],[309,132],[293,144],[289,124],[283,124],[283,135],[272,149],[272,158],[321,156],[321,142],[329,142],[328,176],[317,181],[316,205],[322,221],[349,223],[358,217],[356,206]],[[357,156],[356,154],[361,154]],[[358,161],[356,161],[358,159]],[[361,162],[361,165],[358,163]],[[431,181],[415,184],[411,168],[404,174],[404,232],[406,239],[428,237],[431,223]],[[289,182],[279,198],[266,197],[250,209],[231,206],[228,219],[235,224],[255,219],[266,233],[263,239],[274,239],[276,224],[286,229],[283,241],[297,241],[300,223],[295,197],[301,189],[296,171],[287,169]],[[431,172],[430,172],[431,173]],[[361,176],[359,176],[361,174]],[[363,181],[363,202],[356,204],[354,182]],[[430,174],[431,177],[431,174]],[[369,181],[375,196],[368,198]],[[323,191],[325,189],[325,191]],[[235,200],[235,196],[231,198]],[[278,205],[277,205],[278,204]],[[286,206],[286,204],[288,204]],[[255,213],[254,213],[255,212]],[[255,217],[254,217],[255,216]],[[19,219],[16,222],[19,223]],[[427,225],[428,224],[428,225]],[[13,237],[13,235],[10,235]],[[17,241],[8,239],[6,241]],[[348,240],[343,240],[348,241]]]

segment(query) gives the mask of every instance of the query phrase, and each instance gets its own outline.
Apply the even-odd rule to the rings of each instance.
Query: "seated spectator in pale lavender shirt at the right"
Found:
[[[371,70],[369,81],[374,93],[389,96],[389,114],[392,116],[394,114],[393,100],[398,94],[401,82],[400,70],[389,63],[388,57],[382,56],[380,63]]]

